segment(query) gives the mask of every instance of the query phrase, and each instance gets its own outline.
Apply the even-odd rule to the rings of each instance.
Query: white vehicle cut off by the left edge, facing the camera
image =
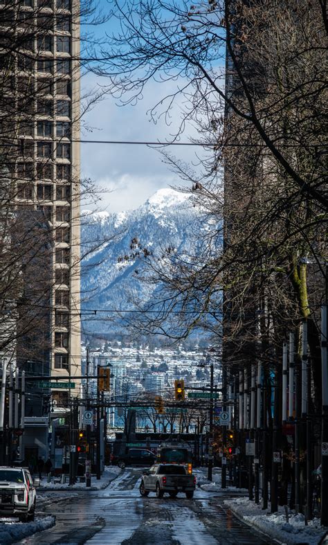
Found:
[[[0,517],[34,520],[39,479],[33,481],[26,467],[0,467]]]

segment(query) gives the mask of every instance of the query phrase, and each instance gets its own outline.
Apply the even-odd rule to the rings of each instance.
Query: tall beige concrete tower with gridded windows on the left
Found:
[[[47,395],[58,416],[80,395],[80,2],[0,0],[0,38],[1,163],[22,255],[30,244],[17,260],[28,300],[17,311],[17,362],[45,377],[27,382],[26,416],[42,416]],[[35,328],[29,313],[30,323],[39,316]]]

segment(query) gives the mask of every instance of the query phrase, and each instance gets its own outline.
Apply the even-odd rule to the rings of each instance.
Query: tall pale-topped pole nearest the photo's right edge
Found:
[[[326,269],[327,271],[327,269]],[[326,284],[327,290],[327,284]],[[327,293],[326,293],[327,297]],[[328,526],[328,361],[327,361],[327,298],[321,308],[322,364],[322,435],[321,435],[321,524]]]

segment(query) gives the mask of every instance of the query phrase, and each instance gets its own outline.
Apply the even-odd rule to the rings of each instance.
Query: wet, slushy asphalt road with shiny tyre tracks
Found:
[[[37,516],[56,515],[56,525],[20,544],[253,545],[272,541],[239,521],[223,496],[198,489],[193,500],[140,497],[140,469],[126,469],[107,488],[78,492],[49,503]],[[47,492],[42,492],[42,495]],[[48,492],[51,497],[51,492]],[[227,495],[225,494],[226,498]]]

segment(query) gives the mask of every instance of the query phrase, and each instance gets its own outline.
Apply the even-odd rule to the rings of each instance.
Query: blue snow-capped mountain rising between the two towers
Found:
[[[148,301],[156,285],[139,280],[145,271],[143,249],[154,256],[168,247],[177,253],[193,253],[201,244],[194,235],[206,229],[188,195],[172,189],[158,190],[134,211],[86,213],[82,222],[82,251],[86,254],[82,309],[127,310],[134,309],[136,301]],[[100,319],[104,313],[97,316]],[[98,319],[90,321],[88,316],[86,329],[107,332],[109,325]]]

